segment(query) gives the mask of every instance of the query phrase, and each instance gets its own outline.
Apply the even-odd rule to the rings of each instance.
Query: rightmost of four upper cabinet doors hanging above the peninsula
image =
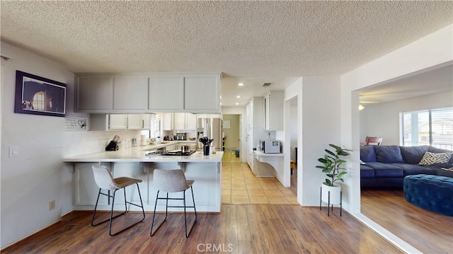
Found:
[[[220,112],[220,95],[219,75],[184,77],[184,110]]]

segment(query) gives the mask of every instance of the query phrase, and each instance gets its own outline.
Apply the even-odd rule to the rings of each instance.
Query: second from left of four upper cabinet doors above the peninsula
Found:
[[[148,76],[115,76],[113,110],[147,110],[147,108]]]

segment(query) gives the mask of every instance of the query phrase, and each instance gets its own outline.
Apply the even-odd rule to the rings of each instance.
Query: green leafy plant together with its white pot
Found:
[[[325,149],[327,154],[324,154],[322,158],[318,158],[318,161],[322,163],[322,166],[316,166],[321,168],[323,173],[326,173],[326,181],[321,185],[321,200],[330,204],[341,204],[341,186],[336,185],[336,181],[343,182],[343,175],[345,175],[346,168],[342,167],[342,164],[346,161],[340,158],[340,156],[349,156],[348,149],[343,149],[335,144],[329,144],[334,150],[330,151]]]

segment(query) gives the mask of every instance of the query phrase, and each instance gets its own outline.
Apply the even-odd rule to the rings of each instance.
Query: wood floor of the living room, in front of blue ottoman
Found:
[[[453,217],[415,207],[403,190],[362,190],[362,214],[423,253],[453,253]]]

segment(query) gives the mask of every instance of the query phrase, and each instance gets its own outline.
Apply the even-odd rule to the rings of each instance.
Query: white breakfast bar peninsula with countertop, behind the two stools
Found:
[[[98,195],[98,185],[94,181],[91,166],[101,164],[107,166],[113,178],[122,176],[138,178],[140,192],[145,211],[154,210],[157,190],[153,185],[154,169],[180,168],[185,178],[195,180],[193,192],[197,212],[220,212],[222,205],[222,156],[223,151],[215,151],[203,155],[203,151],[195,151],[190,155],[156,154],[143,147],[133,147],[122,151],[105,151],[64,158],[64,168],[73,173],[73,204],[74,210],[94,209]],[[135,185],[126,188],[127,200],[139,202]],[[122,192],[122,191],[121,191]],[[118,193],[122,197],[122,193]],[[169,193],[169,197],[182,197],[183,193]],[[110,210],[107,197],[99,200],[98,209]],[[124,209],[124,199],[115,199],[114,209]],[[132,211],[138,207],[127,207]],[[165,211],[165,203],[158,202],[158,211]],[[168,209],[170,212],[182,212],[182,209]]]

